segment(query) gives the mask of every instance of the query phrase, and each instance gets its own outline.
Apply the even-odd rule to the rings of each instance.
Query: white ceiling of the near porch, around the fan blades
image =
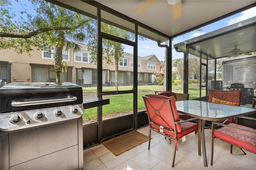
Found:
[[[142,14],[136,14],[135,11],[146,0],[96,0],[96,2],[172,37],[251,5],[256,0],[182,0],[182,17],[176,20],[172,18],[172,7],[167,0],[157,0]]]

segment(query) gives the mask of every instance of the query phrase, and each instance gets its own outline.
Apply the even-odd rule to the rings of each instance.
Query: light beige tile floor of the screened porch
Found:
[[[148,127],[138,129],[138,132],[148,135]],[[169,144],[168,139],[153,131],[151,136],[150,150],[148,142],[119,156],[102,144],[84,150],[84,170],[256,170],[256,154],[245,151],[247,155],[244,155],[236,146],[230,154],[230,144],[218,139],[214,141],[214,162],[211,166],[210,129],[205,130],[208,167],[204,166],[203,156],[198,155],[198,134],[188,134],[184,142],[178,140],[174,168],[172,156],[175,142]]]

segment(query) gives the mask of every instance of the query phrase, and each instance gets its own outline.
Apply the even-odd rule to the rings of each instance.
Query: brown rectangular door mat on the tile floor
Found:
[[[148,141],[148,136],[137,131],[132,131],[102,142],[102,144],[118,156],[146,141]]]

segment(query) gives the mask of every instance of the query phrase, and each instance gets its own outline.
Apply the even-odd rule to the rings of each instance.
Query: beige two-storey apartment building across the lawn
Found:
[[[84,87],[92,87],[97,84],[97,65],[92,63],[87,45],[80,44],[81,51],[63,50],[63,61],[68,65],[68,71],[62,72],[62,82],[72,82]],[[2,85],[17,81],[23,82],[55,82],[54,55],[48,49],[17,54],[12,50],[0,51],[0,80]],[[112,57],[114,63],[114,57]],[[115,85],[115,66],[102,61],[102,85]],[[124,53],[120,58],[118,71],[119,85],[132,85],[133,83],[133,55]],[[138,57],[138,84],[156,84],[156,73],[160,72],[161,61],[155,55]]]

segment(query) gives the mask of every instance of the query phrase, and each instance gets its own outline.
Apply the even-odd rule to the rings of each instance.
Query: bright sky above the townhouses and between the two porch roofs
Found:
[[[223,28],[225,26],[229,26],[231,24],[246,20],[248,18],[252,18],[254,16],[256,16],[256,7],[246,10],[244,12],[240,12],[236,15],[230,16],[218,22],[214,22],[213,24],[204,26],[202,27],[202,31],[193,31],[193,32],[190,32],[190,34],[186,35],[185,37],[180,36],[180,37],[174,38],[172,44],[189,40],[196,36],[200,36],[202,34],[212,32],[214,30]],[[132,53],[132,49],[125,48],[125,52]],[[157,43],[152,40],[144,40],[144,41],[138,42],[138,56],[140,57],[154,54],[156,55],[156,57],[158,57],[158,59],[164,60],[164,53],[165,53],[165,48],[158,47]],[[183,57],[183,53],[178,53],[173,49],[172,56],[174,58],[180,58],[180,57]]]

